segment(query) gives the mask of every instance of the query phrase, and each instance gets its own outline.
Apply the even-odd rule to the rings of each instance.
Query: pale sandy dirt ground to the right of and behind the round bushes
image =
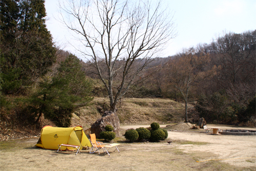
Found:
[[[122,129],[136,129],[138,127],[149,127],[150,125],[121,125]],[[160,125],[164,127],[166,125]],[[207,125],[208,127],[218,126],[222,130],[226,129],[246,129],[256,130],[255,128],[234,127],[227,125]],[[204,133],[203,129],[199,132],[168,131],[168,138],[172,140],[186,140],[196,142],[208,142],[206,145],[179,145],[175,146],[183,149],[186,153],[200,151],[202,153],[214,153],[219,157],[216,159],[230,159],[222,160],[236,166],[256,166],[256,136],[236,136],[236,135],[211,135]],[[206,158],[209,160],[212,158]]]

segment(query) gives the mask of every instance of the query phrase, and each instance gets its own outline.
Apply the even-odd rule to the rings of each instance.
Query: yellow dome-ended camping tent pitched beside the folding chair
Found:
[[[46,149],[58,149],[59,144],[91,146],[89,139],[83,132],[82,126],[76,127],[52,127],[45,126],[41,130],[41,136],[35,146]],[[61,150],[74,149],[61,146]]]

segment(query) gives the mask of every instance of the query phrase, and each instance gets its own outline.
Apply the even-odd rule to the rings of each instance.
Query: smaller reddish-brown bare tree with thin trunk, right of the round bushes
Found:
[[[185,122],[187,119],[187,102],[189,90],[216,72],[216,66],[207,69],[210,58],[208,54],[195,54],[194,49],[187,50],[167,62],[166,78],[170,86],[180,91],[185,100]]]

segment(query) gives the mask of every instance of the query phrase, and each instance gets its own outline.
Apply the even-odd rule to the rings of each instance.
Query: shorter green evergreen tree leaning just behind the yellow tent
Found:
[[[30,112],[37,117],[36,122],[44,114],[57,126],[68,127],[71,124],[72,113],[79,107],[88,105],[92,83],[81,70],[79,59],[70,55],[61,62],[57,73],[45,76],[39,83],[39,88],[30,98]]]

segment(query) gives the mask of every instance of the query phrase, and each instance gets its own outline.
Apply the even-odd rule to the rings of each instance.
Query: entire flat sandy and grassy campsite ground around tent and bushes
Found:
[[[121,125],[121,129],[149,126]],[[170,139],[172,145],[166,141],[129,143],[120,138],[116,140],[121,144],[120,153],[110,149],[110,157],[104,156],[102,149],[100,155],[85,150],[75,155],[71,151],[57,153],[37,148],[34,145],[38,137],[2,141],[0,170],[256,170],[256,136],[211,135],[201,129],[168,131]]]

